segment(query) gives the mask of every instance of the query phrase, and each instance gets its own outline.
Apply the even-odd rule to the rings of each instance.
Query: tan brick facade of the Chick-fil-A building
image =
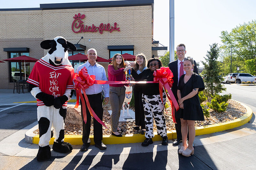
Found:
[[[96,33],[74,33],[71,29],[75,14],[84,14],[84,26],[99,26],[100,23],[114,26],[116,22],[120,32],[103,31]],[[108,8],[55,9],[31,11],[0,11],[0,60],[8,58],[3,48],[29,48],[29,56],[37,59],[48,50],[40,47],[43,40],[63,36],[67,41],[79,42],[86,49],[95,48],[98,56],[108,59],[108,46],[133,45],[134,55],[144,53],[151,58],[152,42],[152,6],[126,6]],[[91,40],[89,42],[89,39]],[[87,51],[85,51],[86,53]],[[108,63],[100,63],[106,69]],[[30,71],[34,63],[30,63]],[[9,63],[0,63],[0,89],[13,88],[9,83]],[[106,70],[107,71],[107,70]]]

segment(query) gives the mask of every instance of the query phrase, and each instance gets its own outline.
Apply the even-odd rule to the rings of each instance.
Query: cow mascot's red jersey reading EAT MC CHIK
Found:
[[[34,68],[27,82],[39,87],[42,92],[59,97],[65,94],[66,89],[74,89],[74,68],[71,65],[56,67],[40,59]],[[67,106],[67,103],[68,101],[63,106]],[[43,105],[44,102],[37,99],[37,106]]]

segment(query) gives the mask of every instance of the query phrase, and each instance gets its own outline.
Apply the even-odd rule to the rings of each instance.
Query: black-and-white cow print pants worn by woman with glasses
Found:
[[[166,95],[163,92],[163,101],[164,105],[166,103]],[[145,137],[152,138],[154,137],[153,131],[153,118],[156,122],[157,132],[161,137],[165,137],[166,133],[166,124],[164,118],[164,105],[161,101],[160,94],[147,96],[142,94],[142,103],[145,112],[145,124],[146,124],[146,134]]]

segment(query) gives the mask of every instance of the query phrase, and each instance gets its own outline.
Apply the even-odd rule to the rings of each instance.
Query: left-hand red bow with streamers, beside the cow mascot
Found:
[[[84,117],[84,122],[86,123],[87,122],[87,117],[86,117],[86,107],[85,107],[85,101],[86,101],[86,105],[88,107],[88,110],[91,114],[92,117],[94,117],[100,124],[102,124],[103,126],[105,126],[107,128],[107,126],[105,125],[105,123],[103,123],[100,118],[95,114],[95,112],[92,110],[92,107],[89,103],[89,100],[87,98],[87,95],[85,94],[85,89],[88,89],[89,86],[93,85],[95,82],[95,76],[94,75],[89,75],[87,73],[87,69],[86,67],[84,67],[83,69],[81,69],[78,73],[75,73],[75,76],[74,76],[74,83],[75,83],[75,88],[76,88],[76,93],[78,95],[76,95],[76,106],[75,108],[78,107],[79,105],[79,96],[81,98],[81,101],[82,101],[82,106],[83,106],[83,117]],[[81,90],[83,91],[84,93],[84,98],[85,98],[85,101],[84,101],[84,98],[83,98],[83,95],[81,93]],[[91,120],[89,120],[91,121]]]

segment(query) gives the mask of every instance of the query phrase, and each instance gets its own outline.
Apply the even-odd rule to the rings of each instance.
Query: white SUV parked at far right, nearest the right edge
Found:
[[[235,83],[235,80],[236,80],[236,83],[238,83],[238,84],[240,84],[242,81],[244,81],[244,82],[247,82],[247,81],[253,82],[254,77],[251,74],[248,74],[248,73],[238,73],[238,76],[237,76],[237,73],[229,73],[227,81],[229,81],[230,83]]]

